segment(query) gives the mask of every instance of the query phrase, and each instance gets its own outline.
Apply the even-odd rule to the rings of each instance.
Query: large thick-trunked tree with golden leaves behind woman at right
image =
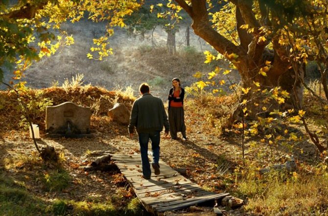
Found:
[[[239,71],[245,89],[241,101],[253,111],[249,116],[255,117],[263,112],[261,107],[268,106],[259,103],[264,100],[258,92],[266,93],[278,86],[290,94],[287,105],[301,108],[305,64],[316,60],[319,66],[326,65],[327,1],[219,2],[222,7],[214,8],[211,0],[170,0],[169,5],[183,8],[193,21],[194,32],[219,53],[207,53],[208,62],[223,56]],[[326,68],[322,68],[325,86]],[[219,72],[218,68],[213,73]],[[257,106],[253,103],[255,98]],[[277,105],[271,104],[267,112],[279,108],[287,97],[277,99]]]

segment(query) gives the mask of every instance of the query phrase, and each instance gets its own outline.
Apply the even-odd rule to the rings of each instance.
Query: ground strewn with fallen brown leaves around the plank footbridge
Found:
[[[44,92],[41,95],[43,95],[42,97],[47,95],[56,104],[71,97],[69,101],[86,105],[84,100],[91,98],[89,95],[96,97],[94,92],[99,92],[96,87],[88,87],[88,89],[90,91],[86,90],[82,94],[84,97],[78,93],[82,91],[81,89],[76,89],[75,93],[66,93],[58,87],[41,89]],[[92,92],[93,94],[91,94]],[[4,100],[8,105],[16,106],[14,105],[17,101],[15,95],[11,94],[11,96]],[[131,108],[132,100],[126,100],[124,103]],[[100,106],[100,108],[106,110],[105,106]],[[215,130],[210,127],[206,116],[195,112],[191,99],[186,100],[185,110],[188,139],[183,141],[180,135],[177,140],[171,140],[162,134],[161,160],[173,168],[185,168],[187,177],[204,189],[214,192],[231,192],[233,195],[239,196],[238,198],[246,199],[247,197],[243,194],[234,194],[234,190],[238,187],[234,181],[235,170],[243,166],[241,135],[237,131],[227,135],[217,135]],[[74,200],[76,202],[106,203],[111,200],[113,205],[120,208],[126,206],[131,198],[135,197],[118,170],[103,172],[85,171],[81,168],[81,166],[90,165],[95,157],[101,156],[105,151],[111,154],[140,154],[138,138],[137,136],[132,139],[129,137],[126,125],[117,123],[106,115],[93,115],[91,118],[92,138],[49,138],[44,131],[45,113],[36,116],[34,123],[39,124],[41,130],[41,138],[37,139],[37,143],[40,147],[53,146],[60,153],[61,161],[60,168],[58,168],[51,163],[44,164],[38,157],[29,132],[22,130],[19,126],[21,121],[19,112],[9,107],[1,113],[0,164],[2,177],[13,179],[16,184],[23,186],[30,194],[42,197],[46,202]],[[98,113],[103,113],[103,111],[99,110]],[[12,124],[8,124],[8,122]],[[299,135],[302,134],[302,132],[299,133]],[[257,137],[248,137],[245,140],[245,157],[248,161],[258,157],[258,151],[251,150],[251,141],[256,139]],[[270,157],[269,149],[266,151]],[[279,147],[278,151],[281,156],[290,153],[282,147]],[[301,151],[306,154],[302,154]],[[310,143],[303,143],[295,147],[294,156],[298,163],[311,162],[315,157],[315,148]],[[266,165],[268,165],[267,161],[263,161],[262,166]],[[63,189],[47,188],[45,176],[51,176],[58,170],[65,170],[68,173],[70,179],[68,186]],[[186,208],[165,214],[172,216],[215,215],[211,205],[200,206],[196,213],[191,213],[191,210]],[[247,215],[243,212],[243,208],[235,210],[227,207],[220,208],[226,209],[228,215]]]

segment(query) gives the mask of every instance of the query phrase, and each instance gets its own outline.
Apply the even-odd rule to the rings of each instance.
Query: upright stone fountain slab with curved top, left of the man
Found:
[[[46,131],[49,136],[90,136],[90,107],[65,102],[46,109]]]

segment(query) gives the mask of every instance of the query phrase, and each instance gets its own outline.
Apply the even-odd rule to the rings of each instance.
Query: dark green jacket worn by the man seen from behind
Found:
[[[134,133],[136,127],[138,133],[149,133],[154,131],[169,131],[167,115],[164,104],[158,97],[150,93],[144,93],[132,106],[129,134]]]

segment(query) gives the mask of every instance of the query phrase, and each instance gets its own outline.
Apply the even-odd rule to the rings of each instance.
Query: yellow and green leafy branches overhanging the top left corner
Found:
[[[60,46],[74,43],[66,32],[55,35],[63,22],[74,23],[88,14],[94,22],[107,21],[106,35],[94,39],[89,58],[102,59],[112,53],[108,36],[113,27],[124,27],[123,19],[138,9],[136,0],[18,0],[15,3],[0,2],[0,77],[3,69],[15,69],[15,79],[21,79],[23,71],[34,60],[54,54]],[[63,37],[64,36],[64,37]],[[2,79],[1,79],[2,80]]]

